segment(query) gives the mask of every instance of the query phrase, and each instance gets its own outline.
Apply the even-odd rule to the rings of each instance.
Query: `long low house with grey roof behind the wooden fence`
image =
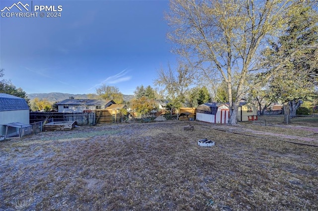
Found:
[[[97,109],[105,109],[112,104],[116,103],[113,100],[74,99],[74,97],[56,103],[58,112],[61,113],[91,112]]]

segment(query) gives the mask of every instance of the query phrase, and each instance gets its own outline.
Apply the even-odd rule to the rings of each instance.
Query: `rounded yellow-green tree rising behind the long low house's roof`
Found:
[[[123,103],[124,101],[123,94],[116,86],[106,86],[106,84],[102,84],[96,89],[96,94],[99,95],[100,99],[113,100],[117,104]]]

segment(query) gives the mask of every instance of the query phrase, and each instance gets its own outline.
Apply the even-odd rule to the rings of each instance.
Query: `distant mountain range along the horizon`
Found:
[[[95,94],[93,94],[95,95]],[[68,94],[68,93],[60,93],[60,92],[51,92],[51,93],[32,93],[27,94],[28,98],[30,100],[33,100],[34,98],[39,98],[40,100],[46,99],[49,102],[60,102],[62,100],[69,99],[70,97],[74,97],[75,99],[88,99],[87,94]],[[97,98],[97,95],[95,95]],[[131,99],[133,99],[134,95],[127,95],[124,94],[124,101],[128,102]]]

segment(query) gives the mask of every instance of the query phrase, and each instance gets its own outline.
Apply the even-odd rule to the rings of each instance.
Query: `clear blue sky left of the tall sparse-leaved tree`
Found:
[[[0,1],[0,68],[26,93],[95,93],[105,83],[133,94],[175,63],[166,38],[168,0],[20,0],[28,12],[61,5],[61,17],[38,10],[38,17],[12,17],[19,9],[5,7],[18,2]]]

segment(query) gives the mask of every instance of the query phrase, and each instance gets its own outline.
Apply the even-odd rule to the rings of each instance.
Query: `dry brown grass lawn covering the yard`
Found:
[[[0,141],[0,210],[318,210],[318,147],[286,142],[315,133],[191,124],[194,131],[177,121],[82,126]],[[198,146],[203,138],[215,146]]]

